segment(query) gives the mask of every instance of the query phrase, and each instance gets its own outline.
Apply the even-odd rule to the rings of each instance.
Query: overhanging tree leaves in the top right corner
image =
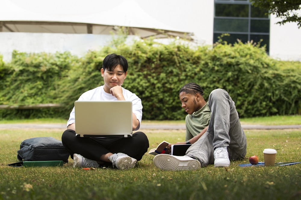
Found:
[[[301,0],[250,0],[255,7],[269,10],[272,14],[280,17],[282,21],[278,24],[296,22],[301,27]]]

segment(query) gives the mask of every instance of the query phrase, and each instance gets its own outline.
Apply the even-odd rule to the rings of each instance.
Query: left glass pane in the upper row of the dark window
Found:
[[[215,16],[219,17],[248,17],[248,4],[215,4]]]

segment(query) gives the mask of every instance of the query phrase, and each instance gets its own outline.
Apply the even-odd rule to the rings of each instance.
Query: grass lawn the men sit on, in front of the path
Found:
[[[157,169],[145,154],[134,169],[61,167],[15,168],[24,139],[52,136],[64,130],[0,130],[0,199],[300,199],[301,164],[242,168],[253,155],[263,162],[263,149],[277,149],[276,162],[301,161],[301,130],[246,130],[247,155],[230,167],[206,166],[196,171]],[[141,130],[150,148],[185,139],[185,130]]]

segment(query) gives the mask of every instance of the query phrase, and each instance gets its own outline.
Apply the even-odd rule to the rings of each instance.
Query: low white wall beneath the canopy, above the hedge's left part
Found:
[[[128,42],[135,38],[137,36],[129,36]],[[11,61],[13,50],[31,53],[70,51],[73,55],[83,56],[88,50],[100,49],[111,40],[111,35],[0,32],[0,54],[6,62]]]

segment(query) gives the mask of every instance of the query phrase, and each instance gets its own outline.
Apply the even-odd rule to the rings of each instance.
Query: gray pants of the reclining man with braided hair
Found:
[[[208,130],[188,148],[186,155],[200,161],[201,166],[214,164],[214,149],[227,146],[229,159],[243,159],[247,153],[247,140],[228,92],[216,89],[208,99],[211,118]]]

